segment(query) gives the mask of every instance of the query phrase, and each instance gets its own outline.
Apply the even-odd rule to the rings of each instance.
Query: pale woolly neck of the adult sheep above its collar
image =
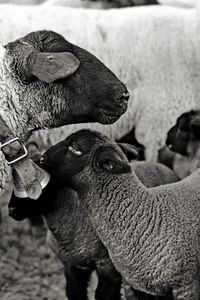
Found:
[[[40,82],[24,84],[13,74],[9,61],[5,48],[0,46],[0,115],[13,134],[25,141],[33,131],[55,125],[53,110],[44,101],[47,88],[41,95]]]

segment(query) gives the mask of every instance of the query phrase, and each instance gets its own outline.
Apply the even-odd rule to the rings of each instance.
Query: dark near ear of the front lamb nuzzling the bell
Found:
[[[97,149],[95,166],[114,174],[131,172],[129,163],[111,147],[100,146]]]

